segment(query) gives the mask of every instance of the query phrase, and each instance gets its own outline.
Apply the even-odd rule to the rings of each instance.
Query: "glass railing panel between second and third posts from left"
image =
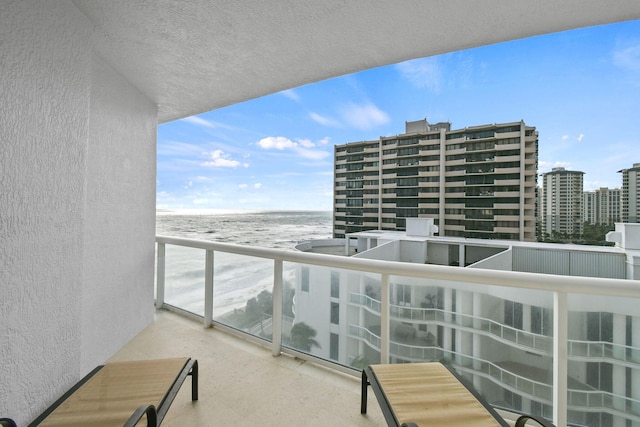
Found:
[[[216,251],[213,257],[213,319],[271,339],[273,260]],[[291,315],[292,295],[286,314]]]

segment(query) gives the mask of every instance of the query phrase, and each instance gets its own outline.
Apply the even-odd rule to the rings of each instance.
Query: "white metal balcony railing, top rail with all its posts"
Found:
[[[392,275],[456,281],[516,289],[548,291],[553,295],[553,420],[556,425],[567,425],[568,408],[568,294],[603,295],[609,297],[640,298],[640,281],[539,275],[512,271],[454,268],[365,258],[341,257],[325,254],[298,252],[285,249],[241,246],[229,243],[157,236],[157,290],[156,306],[165,307],[166,245],[197,248],[205,251],[205,304],[204,325],[213,324],[213,260],[215,252],[238,254],[273,260],[273,321],[272,353],[278,355],[282,348],[283,314],[283,263],[292,262],[336,269],[368,272],[380,275],[380,353],[381,361],[389,360],[390,300],[389,277]],[[543,278],[543,279],[542,279]],[[373,308],[373,307],[372,307]]]

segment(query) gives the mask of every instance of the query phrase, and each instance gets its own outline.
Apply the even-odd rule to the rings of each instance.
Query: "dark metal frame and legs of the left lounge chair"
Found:
[[[53,413],[60,405],[62,405],[71,395],[73,395],[80,387],[89,382],[91,378],[96,375],[105,365],[100,365],[94,370],[89,372],[84,378],[78,381],[73,387],[71,387],[65,394],[56,400],[51,406],[49,406],[38,418],[36,418],[29,427],[36,427],[42,423],[49,415]],[[187,362],[183,366],[180,373],[176,376],[173,384],[162,398],[160,405],[156,408],[154,405],[141,405],[136,409],[131,417],[124,424],[124,427],[133,427],[138,421],[142,419],[144,415],[147,416],[147,426],[157,427],[162,423],[162,420],[167,415],[169,407],[173,403],[180,387],[184,383],[187,376],[191,376],[191,400],[198,400],[198,361],[195,359],[187,359]]]

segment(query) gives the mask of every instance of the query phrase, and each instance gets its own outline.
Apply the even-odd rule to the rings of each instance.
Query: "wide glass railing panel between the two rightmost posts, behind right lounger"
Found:
[[[389,281],[391,362],[450,363],[505,409],[521,410],[510,406],[515,401],[533,412],[552,405],[552,293],[397,275]]]

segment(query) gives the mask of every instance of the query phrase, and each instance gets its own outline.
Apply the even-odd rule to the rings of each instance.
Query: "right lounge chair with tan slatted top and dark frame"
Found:
[[[367,413],[369,385],[389,426],[511,427],[462,377],[438,362],[366,367],[362,371],[362,414]],[[553,427],[529,415],[520,416],[516,426],[528,420]]]

